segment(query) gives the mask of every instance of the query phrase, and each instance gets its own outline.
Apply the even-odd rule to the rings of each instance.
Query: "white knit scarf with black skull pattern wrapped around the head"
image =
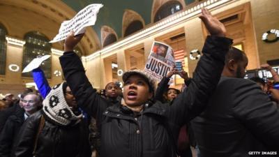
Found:
[[[50,94],[43,100],[43,113],[61,126],[67,126],[72,121],[77,124],[82,119],[82,114],[76,116],[66,103],[63,94],[64,83],[54,86]]]

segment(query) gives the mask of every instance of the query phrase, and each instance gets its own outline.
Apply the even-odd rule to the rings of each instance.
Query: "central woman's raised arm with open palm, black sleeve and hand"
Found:
[[[232,40],[225,38],[225,27],[208,10],[202,9],[200,17],[211,36],[206,38],[203,56],[197,63],[188,89],[183,91],[169,110],[169,118],[173,123],[182,125],[199,115],[206,107],[208,100],[216,89],[223,71],[225,54]]]

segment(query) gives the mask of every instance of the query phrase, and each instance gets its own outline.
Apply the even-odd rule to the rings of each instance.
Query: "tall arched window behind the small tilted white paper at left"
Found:
[[[25,68],[30,61],[34,58],[51,54],[52,44],[48,43],[50,40],[43,34],[32,31],[24,35],[24,40],[26,41],[23,50],[22,58],[22,68]],[[52,77],[52,59],[45,60],[40,68],[45,72],[45,77]],[[32,77],[31,73],[22,73],[24,77]]]

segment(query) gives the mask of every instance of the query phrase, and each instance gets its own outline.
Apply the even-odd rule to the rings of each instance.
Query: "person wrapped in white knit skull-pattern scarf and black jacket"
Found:
[[[24,106],[31,111],[29,105]],[[43,110],[25,121],[19,135],[13,151],[16,157],[91,156],[88,122],[66,82],[52,87],[43,100]]]

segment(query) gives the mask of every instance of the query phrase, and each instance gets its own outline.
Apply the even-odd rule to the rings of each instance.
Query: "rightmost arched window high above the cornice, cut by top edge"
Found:
[[[169,15],[172,15],[182,9],[183,7],[179,1],[168,1],[158,9],[154,17],[154,22],[158,22],[159,20],[162,20],[163,18],[168,17]]]

